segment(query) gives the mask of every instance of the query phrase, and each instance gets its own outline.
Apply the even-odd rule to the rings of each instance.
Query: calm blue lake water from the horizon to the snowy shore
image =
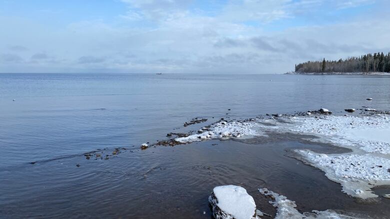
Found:
[[[287,196],[301,211],[386,218],[388,200],[360,203],[285,156],[291,147],[320,146],[212,140],[139,150],[222,117],[363,106],[390,108],[390,77],[0,74],[0,218],[210,218],[207,197],[227,184],[242,185],[269,214],[257,188]],[[183,127],[195,117],[208,121]],[[108,160],[84,156],[118,147]]]

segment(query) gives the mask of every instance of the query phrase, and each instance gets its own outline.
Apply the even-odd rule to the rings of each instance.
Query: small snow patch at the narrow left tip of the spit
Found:
[[[209,139],[228,139],[239,138],[242,136],[255,136],[258,133],[253,129],[257,124],[254,122],[225,122],[221,121],[212,124],[209,131],[204,131],[200,134],[193,134],[188,137],[174,139],[180,143],[190,143],[195,141],[209,140]]]

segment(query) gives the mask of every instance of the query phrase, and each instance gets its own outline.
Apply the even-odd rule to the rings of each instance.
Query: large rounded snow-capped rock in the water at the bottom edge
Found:
[[[242,187],[215,187],[208,202],[215,219],[256,219],[254,200]]]

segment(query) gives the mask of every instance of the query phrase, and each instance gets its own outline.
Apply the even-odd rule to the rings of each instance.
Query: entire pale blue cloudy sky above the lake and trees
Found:
[[[1,73],[285,73],[390,51],[388,0],[0,0]]]

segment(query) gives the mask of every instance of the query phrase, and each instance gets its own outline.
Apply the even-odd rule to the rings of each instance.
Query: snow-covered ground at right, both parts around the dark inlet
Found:
[[[371,188],[390,185],[390,120],[387,115],[294,117],[291,131],[311,133],[334,145],[352,149],[342,155],[296,150],[303,160],[340,183],[342,191],[362,199],[375,198]]]

